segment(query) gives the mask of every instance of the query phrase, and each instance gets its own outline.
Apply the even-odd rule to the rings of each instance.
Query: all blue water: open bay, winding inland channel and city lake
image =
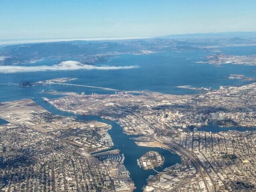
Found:
[[[248,47],[223,47],[219,53],[228,53],[234,55],[250,55],[256,54],[256,46]],[[107,88],[115,88],[121,90],[151,90],[168,94],[194,94],[198,93],[195,90],[175,88],[177,85],[191,85],[194,87],[212,87],[218,89],[219,86],[237,84],[241,80],[229,80],[220,78],[227,77],[230,74],[244,74],[246,77],[256,77],[256,66],[240,66],[240,65],[209,65],[198,64],[195,61],[202,60],[202,57],[213,52],[166,52],[149,55],[131,55],[124,54],[119,57],[111,58],[110,62],[98,63],[97,65],[113,65],[127,66],[137,65],[140,68],[129,70],[75,70],[75,71],[55,71],[55,72],[30,72],[30,73],[15,73],[15,74],[0,74],[0,84],[6,82],[20,83],[22,80],[36,82],[39,80],[47,80],[60,77],[78,78],[70,83],[84,84],[90,86],[100,86]],[[69,60],[76,60],[70,58]],[[51,65],[60,62],[61,60],[44,60],[33,65]],[[24,64],[27,65],[27,64]],[[30,64],[32,65],[32,64]],[[36,103],[46,108],[48,111],[63,116],[71,116],[67,112],[62,112],[50,106],[42,100],[42,97],[47,98],[59,97],[54,95],[41,94],[42,90],[58,90],[68,92],[85,92],[92,94],[112,94],[113,91],[96,90],[89,88],[77,88],[66,86],[34,86],[20,88],[17,85],[0,85],[0,102],[19,100],[22,98],[32,98]],[[141,191],[143,185],[146,184],[146,179],[150,174],[156,174],[153,170],[142,170],[137,165],[137,159],[149,150],[160,152],[165,157],[165,163],[162,167],[156,168],[162,170],[166,166],[170,166],[180,162],[180,158],[176,154],[171,154],[167,150],[160,148],[138,147],[130,136],[122,133],[122,128],[116,122],[100,119],[95,116],[77,116],[79,120],[98,120],[112,125],[112,130],[109,130],[114,141],[114,148],[118,148],[124,153],[124,164],[131,173],[131,178],[137,186],[136,191]],[[0,124],[4,123],[0,120]],[[198,128],[198,130],[218,132],[223,130],[238,129],[238,128],[220,128],[216,124],[210,124],[208,127]],[[243,130],[243,128],[239,128]]]

